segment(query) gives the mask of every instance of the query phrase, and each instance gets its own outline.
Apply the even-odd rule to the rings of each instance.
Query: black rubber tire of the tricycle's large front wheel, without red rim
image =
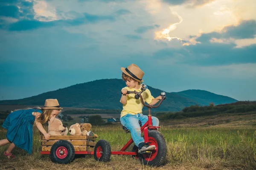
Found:
[[[166,159],[166,153],[167,153],[166,140],[164,139],[163,135],[157,130],[149,130],[148,137],[149,136],[151,136],[157,141],[157,146],[156,146],[158,147],[157,155],[153,160],[147,161],[144,158],[143,154],[139,154],[140,162],[144,165],[160,167],[163,165],[163,162]]]

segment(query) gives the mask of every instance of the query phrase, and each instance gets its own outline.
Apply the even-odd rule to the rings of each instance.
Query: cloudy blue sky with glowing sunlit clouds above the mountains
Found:
[[[0,100],[131,63],[166,92],[256,100],[255,0],[0,0]],[[125,82],[124,82],[125,86]],[[121,89],[120,89],[121,90]]]

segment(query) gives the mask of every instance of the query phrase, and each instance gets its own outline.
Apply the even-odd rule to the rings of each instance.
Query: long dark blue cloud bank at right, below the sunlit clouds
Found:
[[[256,45],[234,48],[235,44],[201,43],[183,48],[164,48],[154,53],[160,60],[173,59],[173,62],[189,65],[230,65],[256,63]]]

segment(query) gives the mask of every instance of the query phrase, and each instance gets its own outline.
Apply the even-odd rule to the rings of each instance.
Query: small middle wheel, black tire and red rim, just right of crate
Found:
[[[97,149],[101,148],[102,149],[102,155],[99,157],[97,156]],[[99,152],[99,150],[98,150]],[[111,156],[111,146],[108,141],[106,140],[99,140],[95,147],[94,147],[94,159],[96,161],[102,161],[102,162],[108,162],[110,161],[110,156]]]

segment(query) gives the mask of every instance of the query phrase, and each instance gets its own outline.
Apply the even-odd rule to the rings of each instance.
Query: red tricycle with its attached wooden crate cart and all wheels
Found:
[[[127,94],[136,94],[135,98],[140,99],[142,104],[148,108],[148,121],[141,127],[141,132],[144,133],[145,143],[150,145],[154,144],[154,150],[145,150],[141,153],[138,153],[138,147],[134,145],[132,151],[126,151],[129,146],[133,143],[133,139],[130,139],[124,147],[119,151],[111,151],[111,146],[106,140],[99,140],[95,144],[95,138],[92,136],[50,136],[51,139],[62,139],[57,142],[52,142],[52,146],[43,146],[46,145],[47,141],[42,142],[42,151],[41,154],[50,154],[50,157],[53,162],[67,164],[74,159],[75,154],[88,154],[94,155],[94,159],[97,161],[110,161],[110,156],[112,155],[131,155],[136,159],[140,159],[142,164],[152,165],[152,166],[161,166],[163,161],[166,158],[167,146],[166,140],[163,135],[157,130],[158,126],[152,125],[151,118],[151,108],[158,108],[163,100],[166,98],[165,92],[161,93],[162,99],[158,105],[147,105],[143,101],[141,93],[147,89],[145,84],[142,84],[142,89],[140,92],[137,91],[128,91]],[[140,122],[139,122],[140,123]],[[141,125],[141,123],[140,123]],[[130,131],[123,127],[126,133]],[[75,139],[75,140],[74,140]],[[44,144],[43,144],[44,143]],[[49,142],[48,142],[49,143]],[[48,149],[45,149],[47,148]]]

